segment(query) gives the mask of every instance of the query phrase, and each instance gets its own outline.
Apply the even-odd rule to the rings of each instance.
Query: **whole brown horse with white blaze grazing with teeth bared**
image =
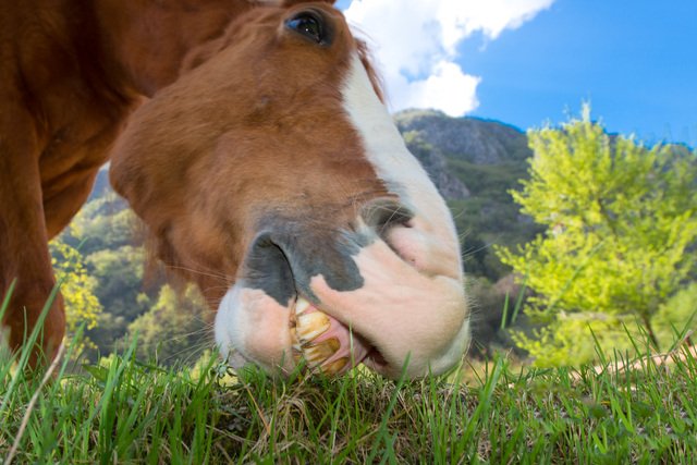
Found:
[[[333,1],[3,3],[0,292],[16,278],[12,347],[53,285],[47,240],[111,154],[114,188],[157,256],[218,309],[233,364],[288,370],[297,350],[319,351],[341,371],[362,351],[381,374],[408,360],[419,376],[460,360],[468,314],[452,218]],[[291,328],[318,315],[320,336]],[[350,331],[360,351],[346,350]],[[63,333],[59,301],[49,356]]]

